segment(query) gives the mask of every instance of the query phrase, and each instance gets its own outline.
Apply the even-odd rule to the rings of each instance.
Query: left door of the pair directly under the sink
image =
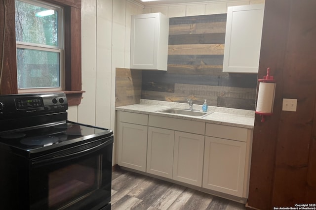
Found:
[[[148,127],[147,173],[172,178],[174,131]]]

